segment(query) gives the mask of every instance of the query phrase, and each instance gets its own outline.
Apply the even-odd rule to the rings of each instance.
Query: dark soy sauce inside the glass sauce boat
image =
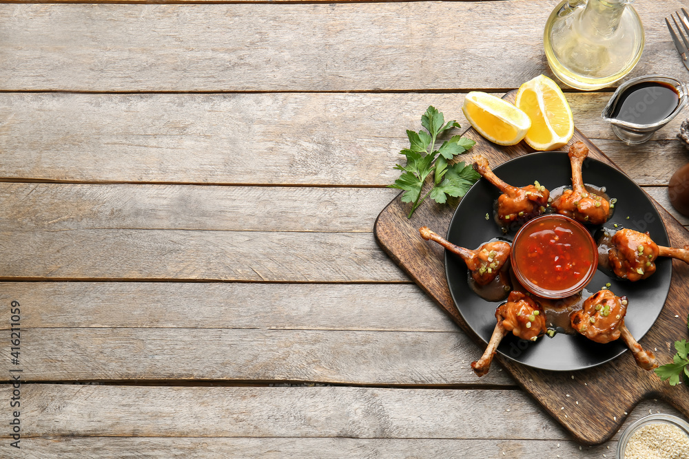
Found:
[[[652,125],[667,118],[679,105],[674,86],[660,81],[643,81],[631,85],[619,95],[610,118]]]

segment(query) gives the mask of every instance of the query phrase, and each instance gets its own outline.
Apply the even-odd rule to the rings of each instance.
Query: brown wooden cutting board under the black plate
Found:
[[[505,98],[513,100],[514,94],[515,92],[508,93]],[[476,141],[473,153],[482,154],[493,166],[533,151],[524,142],[512,147],[500,147],[482,138],[473,128],[466,131],[464,136]],[[584,134],[575,129],[570,145],[579,140],[588,146],[591,157],[617,167]],[[689,244],[689,233],[686,229],[668,211],[657,202],[653,202],[663,218],[672,246],[681,247]],[[374,234],[378,244],[393,261],[430,295],[464,332],[481,348],[485,348],[486,344],[464,323],[453,303],[445,279],[442,250],[425,250],[424,245],[428,243],[418,232],[420,226],[429,226],[444,235],[456,204],[455,202],[454,206],[440,206],[426,200],[415,211],[412,219],[408,220],[407,213],[411,209],[411,204],[401,202],[398,196],[378,215]],[[429,253],[436,255],[429,257]],[[672,356],[676,352],[675,341],[688,337],[688,299],[689,266],[673,260],[672,281],[666,304],[656,323],[639,341],[645,349],[654,350],[661,364],[672,361]],[[675,317],[676,315],[679,317]],[[624,422],[627,416],[624,413],[630,413],[644,398],[662,398],[689,416],[687,388],[683,385],[672,387],[661,381],[655,373],[641,370],[628,351],[613,361],[577,372],[535,370],[506,359],[500,354],[496,354],[496,359],[546,412],[568,429],[578,442],[586,445],[595,445],[610,439]]]

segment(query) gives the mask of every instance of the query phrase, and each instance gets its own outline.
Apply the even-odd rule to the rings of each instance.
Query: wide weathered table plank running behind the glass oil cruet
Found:
[[[543,25],[556,3],[3,5],[0,89],[514,88],[547,72]],[[635,3],[646,49],[633,75],[686,76],[662,21],[678,6]]]

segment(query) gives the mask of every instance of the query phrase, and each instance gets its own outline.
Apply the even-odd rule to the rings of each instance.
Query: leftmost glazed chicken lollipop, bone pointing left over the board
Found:
[[[441,246],[459,256],[466,267],[471,271],[471,277],[476,284],[484,286],[489,284],[500,273],[510,257],[511,246],[504,241],[486,242],[477,250],[455,246],[437,233],[433,233],[428,227],[419,228],[421,237],[426,241],[438,242]]]

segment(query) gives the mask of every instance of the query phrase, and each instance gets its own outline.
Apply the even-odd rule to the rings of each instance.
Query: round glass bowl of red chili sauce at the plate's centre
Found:
[[[578,292],[593,277],[598,252],[586,228],[563,215],[543,215],[515,236],[512,267],[534,295],[559,298]]]

